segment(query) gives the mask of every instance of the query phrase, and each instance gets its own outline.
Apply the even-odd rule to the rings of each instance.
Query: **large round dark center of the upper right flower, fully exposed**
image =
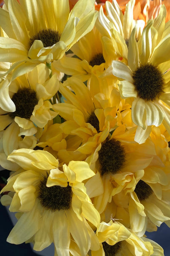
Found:
[[[161,70],[151,63],[138,67],[133,72],[133,79],[139,98],[145,101],[158,99],[164,92],[164,78]]]

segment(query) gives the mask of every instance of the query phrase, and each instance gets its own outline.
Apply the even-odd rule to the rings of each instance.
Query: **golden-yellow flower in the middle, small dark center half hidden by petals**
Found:
[[[121,114],[129,105],[120,99],[119,92],[109,79],[93,79],[86,87],[81,80],[71,77],[60,84],[59,92],[65,97],[65,102],[54,105],[54,111],[65,122],[49,126],[38,145],[57,150],[60,162],[67,163],[70,157],[85,160],[101,146],[109,131],[127,120]]]

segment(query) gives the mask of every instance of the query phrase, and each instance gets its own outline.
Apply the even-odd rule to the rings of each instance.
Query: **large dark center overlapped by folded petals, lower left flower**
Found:
[[[38,198],[43,208],[51,210],[52,212],[58,210],[68,210],[71,207],[72,190],[71,186],[51,186],[47,187],[48,175],[43,177],[40,181]]]

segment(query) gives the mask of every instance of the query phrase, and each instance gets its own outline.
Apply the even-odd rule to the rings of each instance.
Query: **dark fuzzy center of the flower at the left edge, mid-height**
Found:
[[[14,93],[11,100],[14,102],[16,107],[16,111],[9,113],[9,116],[12,119],[14,119],[15,116],[30,119],[32,112],[34,111],[34,107],[38,103],[36,92],[29,88],[17,90],[17,93]]]

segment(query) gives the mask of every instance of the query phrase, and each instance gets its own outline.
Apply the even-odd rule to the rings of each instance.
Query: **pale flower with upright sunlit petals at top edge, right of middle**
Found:
[[[133,19],[134,4],[135,0],[128,1],[124,14],[116,0],[113,0],[112,3],[106,1],[107,15],[100,8],[96,27],[103,36],[102,41],[106,50],[108,50],[108,55],[111,55],[113,59],[117,57],[127,59],[128,42],[134,26],[137,28],[135,35],[137,41],[142,34],[144,21]]]

